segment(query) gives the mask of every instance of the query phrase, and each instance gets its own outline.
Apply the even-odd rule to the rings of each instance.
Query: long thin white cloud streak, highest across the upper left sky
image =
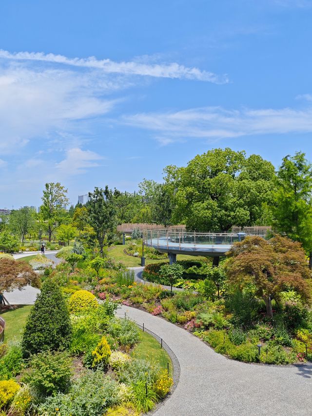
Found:
[[[67,58],[62,55],[44,54],[41,52],[17,52],[10,53],[0,50],[0,58],[15,60],[30,60],[70,65],[75,67],[92,68],[101,70],[106,74],[122,74],[122,75],[140,75],[156,78],[178,78],[178,79],[197,79],[199,81],[208,81],[216,84],[228,82],[226,75],[219,76],[209,71],[202,71],[198,68],[190,68],[173,63],[153,63],[148,64],[139,59],[128,62],[115,62],[110,59],[96,59],[90,57]]]

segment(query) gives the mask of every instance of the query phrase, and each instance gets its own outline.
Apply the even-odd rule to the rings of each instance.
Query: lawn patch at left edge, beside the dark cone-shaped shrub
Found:
[[[32,305],[21,306],[20,308],[8,310],[0,314],[5,320],[5,342],[10,341],[13,338],[20,340],[26,318],[28,317],[31,308]]]

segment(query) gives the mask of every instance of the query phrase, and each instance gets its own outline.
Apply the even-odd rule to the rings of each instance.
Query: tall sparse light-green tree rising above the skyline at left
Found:
[[[63,205],[68,203],[66,197],[67,189],[59,182],[46,183],[43,190],[42,202],[40,207],[40,214],[42,218],[48,223],[48,238],[51,242],[53,230],[59,225],[59,220],[63,214]]]

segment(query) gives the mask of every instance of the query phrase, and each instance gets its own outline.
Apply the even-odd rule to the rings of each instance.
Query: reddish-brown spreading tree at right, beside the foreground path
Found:
[[[264,300],[269,317],[273,317],[272,299],[278,300],[282,291],[295,290],[306,300],[311,297],[311,272],[298,242],[281,236],[269,241],[247,237],[234,243],[228,257],[228,281],[253,290]]]

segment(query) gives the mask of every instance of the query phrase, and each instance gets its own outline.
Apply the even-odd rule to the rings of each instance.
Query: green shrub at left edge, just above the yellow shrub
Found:
[[[0,379],[9,379],[20,374],[24,367],[19,343],[12,343],[7,353],[0,358]]]

